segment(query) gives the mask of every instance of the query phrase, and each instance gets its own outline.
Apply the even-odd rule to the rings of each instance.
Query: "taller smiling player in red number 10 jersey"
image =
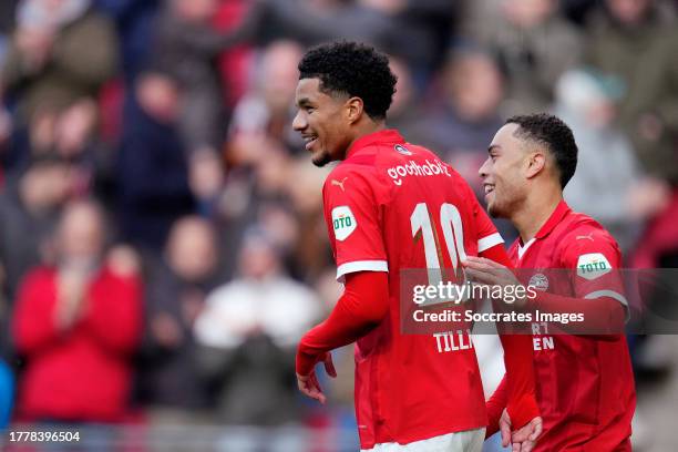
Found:
[[[480,451],[487,419],[470,337],[401,333],[400,271],[458,268],[476,255],[508,264],[503,240],[454,170],[386,129],[396,78],[384,55],[326,44],[304,56],[299,72],[294,129],[317,166],[342,161],[322,194],[346,285],[329,318],[299,343],[299,389],[325,402],[316,363],[335,377],[329,351],[356,341],[362,450]],[[515,425],[527,424],[538,420],[530,337],[502,342],[507,410]]]

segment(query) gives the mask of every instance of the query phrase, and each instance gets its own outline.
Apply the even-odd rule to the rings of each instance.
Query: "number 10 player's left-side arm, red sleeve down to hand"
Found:
[[[329,350],[351,343],[380,323],[389,310],[388,263],[373,181],[364,168],[337,167],[322,198],[337,279],[345,292],[326,321],[304,336],[297,353],[297,382],[308,397],[325,401],[314,367],[325,361],[335,376]]]

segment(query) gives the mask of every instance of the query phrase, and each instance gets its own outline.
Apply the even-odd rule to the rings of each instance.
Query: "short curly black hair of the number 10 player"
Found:
[[[299,62],[299,80],[320,79],[320,89],[362,99],[373,120],[386,119],[397,78],[389,59],[366,44],[332,42],[310,49]]]

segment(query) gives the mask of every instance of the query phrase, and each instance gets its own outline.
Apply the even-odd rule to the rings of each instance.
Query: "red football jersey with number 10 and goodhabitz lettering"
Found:
[[[389,273],[389,315],[356,343],[361,446],[485,427],[468,332],[441,340],[400,331],[401,269],[458,268],[502,243],[472,189],[432,152],[387,130],[355,142],[322,194],[337,277]]]

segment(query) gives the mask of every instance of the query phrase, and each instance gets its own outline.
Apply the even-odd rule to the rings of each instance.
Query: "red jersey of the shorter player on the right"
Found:
[[[516,240],[508,256],[522,271],[534,271],[533,278],[547,291],[579,299],[610,297],[628,306],[622,279],[613,270],[622,264],[615,239],[565,202],[532,240]],[[573,271],[549,281],[548,269],[556,268]],[[625,336],[606,341],[549,335],[547,329],[533,323],[536,393],[544,419],[534,450],[630,451],[636,392]]]

